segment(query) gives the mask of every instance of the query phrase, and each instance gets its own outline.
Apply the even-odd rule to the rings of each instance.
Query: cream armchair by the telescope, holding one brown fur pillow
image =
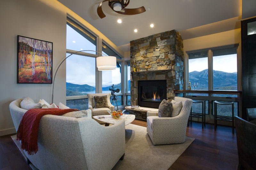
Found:
[[[95,108],[94,106],[94,96],[106,96],[108,98],[108,108]],[[92,117],[93,116],[97,116],[97,115],[108,115],[108,111],[107,110],[111,110],[114,111],[114,106],[110,103],[110,93],[94,93],[94,94],[87,94],[88,96],[88,108],[90,110],[92,110]],[[96,120],[96,119],[95,119]],[[105,124],[102,121],[96,120],[97,122],[99,122],[100,124]]]

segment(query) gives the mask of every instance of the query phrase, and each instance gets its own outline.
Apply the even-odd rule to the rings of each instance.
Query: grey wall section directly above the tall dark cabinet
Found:
[[[242,19],[256,16],[256,0],[242,0]]]

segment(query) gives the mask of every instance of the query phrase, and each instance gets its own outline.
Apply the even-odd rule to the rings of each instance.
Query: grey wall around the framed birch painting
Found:
[[[17,35],[53,42],[53,73],[66,55],[66,12],[39,0],[1,0],[0,136],[15,132],[9,104],[31,97],[51,102],[52,84],[17,84]],[[66,103],[65,63],[58,71],[54,103]]]

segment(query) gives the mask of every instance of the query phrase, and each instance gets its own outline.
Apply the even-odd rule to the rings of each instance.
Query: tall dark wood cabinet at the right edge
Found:
[[[242,118],[246,108],[256,108],[256,18],[241,21]]]

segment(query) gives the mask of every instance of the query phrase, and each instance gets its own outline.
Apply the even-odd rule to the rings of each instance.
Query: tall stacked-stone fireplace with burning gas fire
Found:
[[[130,42],[131,50],[131,104],[144,107],[158,108],[163,99],[173,99],[176,85],[183,89],[183,41],[179,32],[175,30],[150,35],[145,38]],[[137,62],[137,71],[133,72],[133,61]],[[142,82],[151,81],[151,87],[146,91],[154,92],[143,96],[140,85]],[[164,81],[165,90],[156,84]],[[148,88],[148,89],[147,89]],[[164,95],[162,93],[165,93]],[[161,97],[160,97],[161,95]],[[149,102],[150,104],[145,104]]]

